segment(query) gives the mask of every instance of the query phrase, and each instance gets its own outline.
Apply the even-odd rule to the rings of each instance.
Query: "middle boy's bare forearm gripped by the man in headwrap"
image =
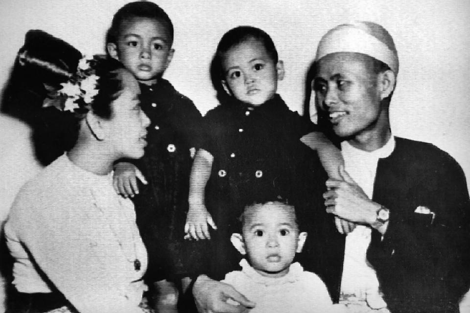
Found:
[[[311,132],[300,140],[310,149],[316,150],[329,178],[341,179],[339,166],[344,164],[341,151],[336,148],[322,132]]]

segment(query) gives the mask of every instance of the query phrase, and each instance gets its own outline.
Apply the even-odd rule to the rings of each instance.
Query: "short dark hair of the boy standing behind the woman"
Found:
[[[133,17],[155,19],[164,22],[170,35],[170,46],[173,44],[174,31],[170,18],[160,6],[145,0],[129,2],[116,12],[106,35],[106,44],[116,44],[119,37],[119,27],[122,22]]]

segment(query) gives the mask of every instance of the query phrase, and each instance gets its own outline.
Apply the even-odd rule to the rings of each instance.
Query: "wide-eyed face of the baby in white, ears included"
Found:
[[[294,209],[281,202],[267,202],[245,209],[243,237],[232,242],[248,255],[253,268],[263,276],[282,277],[289,271],[296,252],[301,252],[306,233],[299,234]],[[236,244],[241,244],[236,246]]]

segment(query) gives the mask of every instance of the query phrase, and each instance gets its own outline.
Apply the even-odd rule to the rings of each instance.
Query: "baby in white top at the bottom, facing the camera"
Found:
[[[245,257],[242,270],[228,273],[223,282],[256,303],[250,313],[343,312],[316,274],[292,263],[307,236],[299,231],[293,206],[278,199],[248,205],[241,224],[231,241]]]

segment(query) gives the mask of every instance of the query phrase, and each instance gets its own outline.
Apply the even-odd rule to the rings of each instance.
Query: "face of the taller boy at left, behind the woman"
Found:
[[[109,43],[107,48],[111,57],[148,85],[156,83],[174,52],[166,24],[140,17],[124,20],[119,28],[117,45]]]

